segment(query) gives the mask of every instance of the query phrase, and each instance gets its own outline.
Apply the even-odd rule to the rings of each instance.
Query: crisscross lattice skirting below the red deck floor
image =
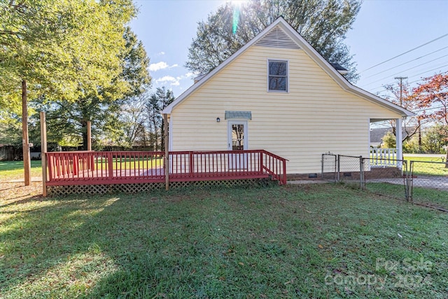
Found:
[[[235,186],[268,186],[270,179],[237,179],[227,181],[173,181],[169,188],[204,188]],[[110,185],[47,186],[49,196],[70,194],[141,193],[165,189],[165,183],[123,183]]]

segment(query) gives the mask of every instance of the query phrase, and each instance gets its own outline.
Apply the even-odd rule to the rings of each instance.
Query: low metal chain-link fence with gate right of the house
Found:
[[[448,211],[448,163],[322,155],[322,179]]]

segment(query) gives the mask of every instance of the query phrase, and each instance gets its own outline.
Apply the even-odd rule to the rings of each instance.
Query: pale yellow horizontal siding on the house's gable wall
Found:
[[[288,61],[288,93],[267,92],[269,57]],[[343,90],[303,50],[261,46],[248,48],[174,107],[172,150],[226,150],[225,111],[251,111],[248,149],[288,159],[289,174],[320,172],[321,154],[329,151],[367,157],[370,118],[400,118]]]

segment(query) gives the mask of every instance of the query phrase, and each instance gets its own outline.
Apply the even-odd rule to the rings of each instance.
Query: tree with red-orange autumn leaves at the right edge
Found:
[[[414,88],[413,97],[423,109],[423,117],[435,121],[444,128],[444,141],[448,140],[448,72],[425,78]],[[447,148],[448,159],[448,148]],[[448,164],[446,165],[448,168]]]

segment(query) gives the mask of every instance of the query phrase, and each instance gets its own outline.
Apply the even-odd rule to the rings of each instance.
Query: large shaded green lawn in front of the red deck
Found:
[[[448,214],[344,185],[48,199],[37,190],[0,184],[1,298],[448,293]]]

